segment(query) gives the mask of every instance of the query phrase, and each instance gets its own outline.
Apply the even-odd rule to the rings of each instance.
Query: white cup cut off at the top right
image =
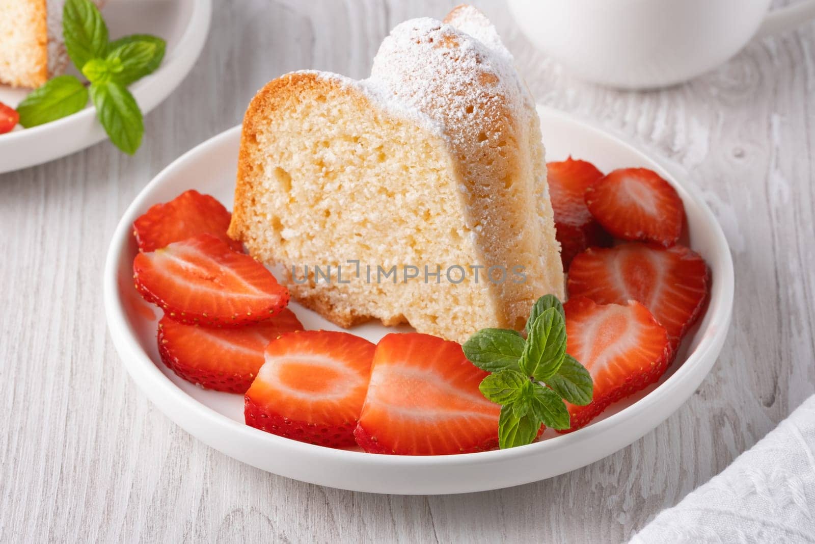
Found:
[[[815,0],[508,0],[526,37],[575,76],[630,89],[684,82],[754,36],[815,17]]]

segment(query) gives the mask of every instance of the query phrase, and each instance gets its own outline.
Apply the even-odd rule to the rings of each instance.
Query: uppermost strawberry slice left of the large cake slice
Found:
[[[231,217],[214,197],[191,189],[140,215],[133,222],[133,235],[142,251],[157,250],[204,232],[227,242],[233,250],[242,251],[240,241],[227,236]]]

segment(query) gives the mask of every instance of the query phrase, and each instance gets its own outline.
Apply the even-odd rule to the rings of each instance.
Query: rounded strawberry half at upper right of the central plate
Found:
[[[586,189],[586,206],[611,236],[676,244],[685,206],[676,189],[646,168],[615,170]]]

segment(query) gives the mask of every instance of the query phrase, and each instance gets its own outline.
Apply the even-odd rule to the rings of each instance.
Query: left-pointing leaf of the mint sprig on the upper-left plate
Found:
[[[17,105],[20,125],[42,125],[77,113],[88,104],[88,90],[76,77],[58,76],[34,89]]]

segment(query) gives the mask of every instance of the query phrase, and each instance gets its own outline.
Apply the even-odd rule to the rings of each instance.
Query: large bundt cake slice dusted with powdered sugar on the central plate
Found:
[[[535,103],[471,7],[399,24],[361,82],[298,72],[259,91],[229,233],[341,326],[463,342],[563,295]]]

